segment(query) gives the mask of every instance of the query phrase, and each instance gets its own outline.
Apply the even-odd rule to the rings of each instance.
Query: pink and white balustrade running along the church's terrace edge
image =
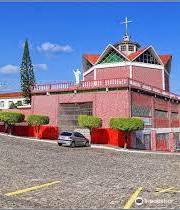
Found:
[[[49,84],[36,84],[32,92],[48,92],[48,91],[66,91],[66,90],[81,90],[81,89],[95,89],[95,88],[110,88],[110,87],[135,87],[145,91],[150,91],[155,94],[161,94],[166,97],[180,100],[180,96],[166,92],[157,87],[144,84],[142,82],[132,80],[129,78],[119,79],[105,79],[105,80],[92,80],[92,81],[81,81],[79,84],[74,82],[61,82],[61,83],[49,83]]]

